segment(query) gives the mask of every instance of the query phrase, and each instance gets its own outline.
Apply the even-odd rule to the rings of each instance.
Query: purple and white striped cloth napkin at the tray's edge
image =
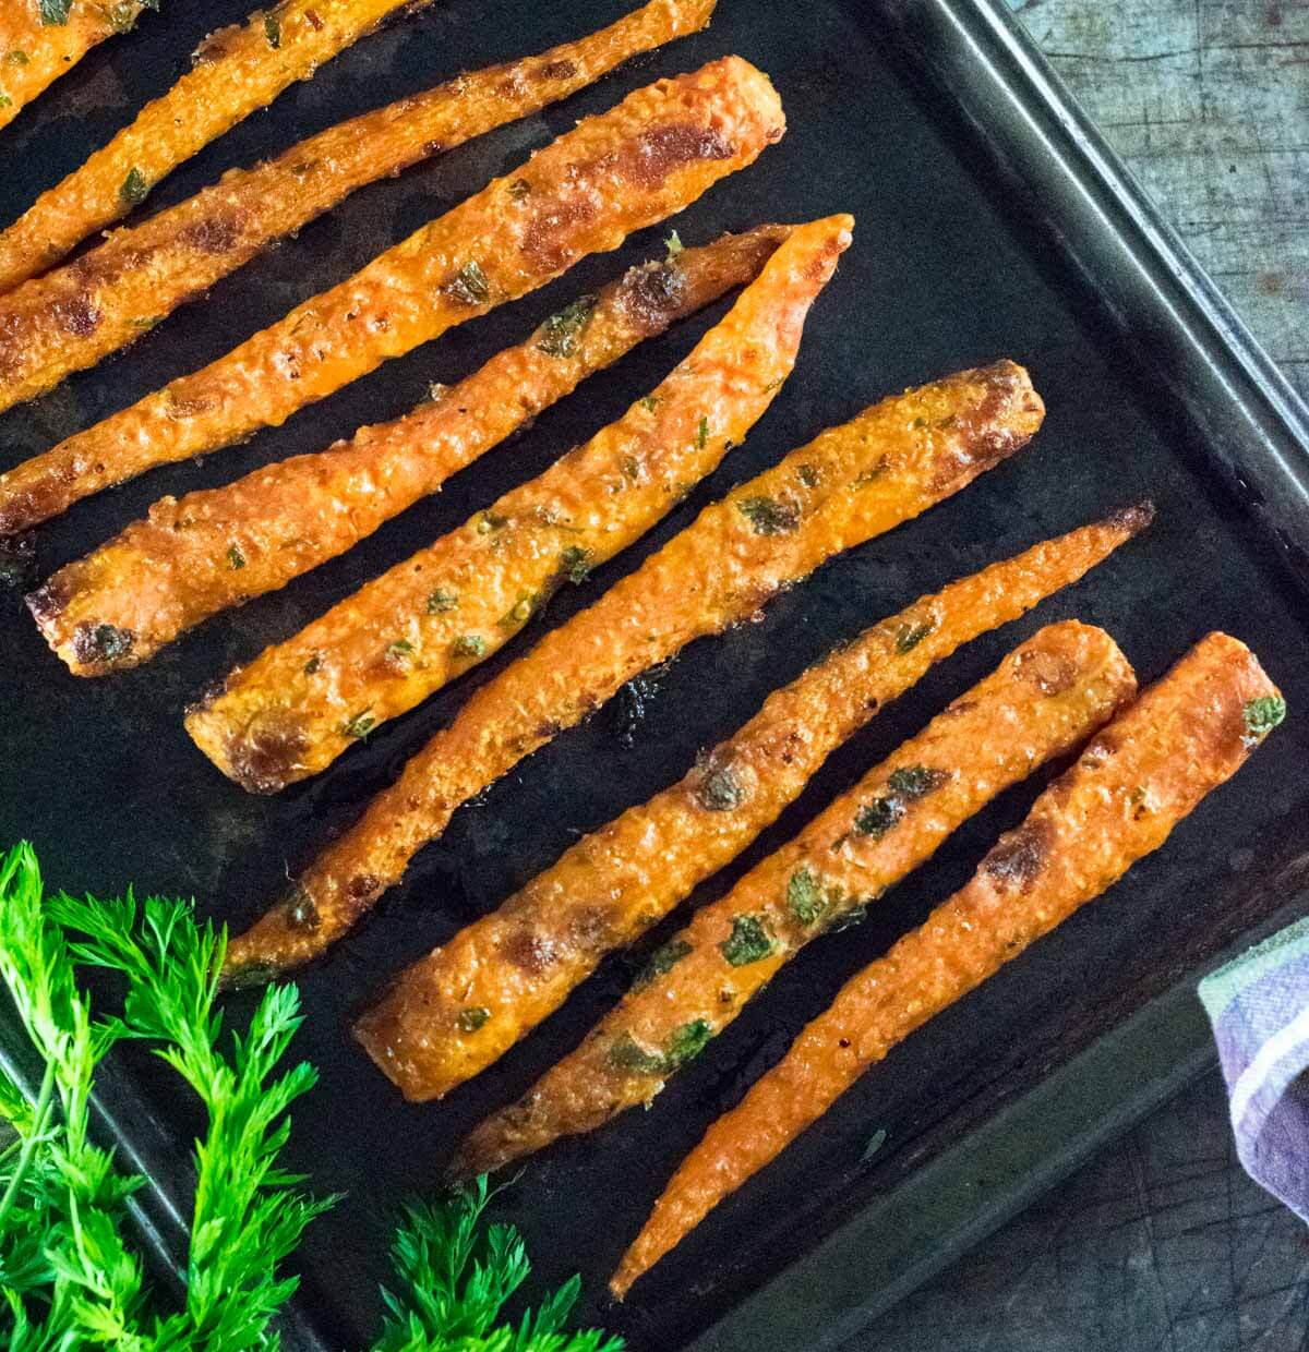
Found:
[[[1199,983],[1245,1172],[1309,1221],[1309,918]]]

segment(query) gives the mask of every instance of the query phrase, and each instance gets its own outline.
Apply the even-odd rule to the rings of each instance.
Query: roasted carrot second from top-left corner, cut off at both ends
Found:
[[[281,0],[243,24],[210,34],[192,69],[168,93],[147,103],[130,126],[0,234],[0,291],[45,272],[88,235],[126,216],[177,165],[288,85],[307,80],[388,14],[426,3]]]

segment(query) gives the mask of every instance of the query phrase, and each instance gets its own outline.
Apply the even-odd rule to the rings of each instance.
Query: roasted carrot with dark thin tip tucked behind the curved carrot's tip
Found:
[[[285,585],[437,492],[592,372],[757,277],[790,233],[760,226],[633,268],[406,418],[222,488],[161,499],[145,521],[28,598],[42,633],[77,676],[135,667],[192,625]],[[103,626],[119,639],[92,644],[97,660],[87,661],[88,635]]]

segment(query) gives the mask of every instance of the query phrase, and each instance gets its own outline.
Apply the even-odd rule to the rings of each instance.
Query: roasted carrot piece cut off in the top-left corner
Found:
[[[0,127],[158,0],[5,0],[0,7]]]

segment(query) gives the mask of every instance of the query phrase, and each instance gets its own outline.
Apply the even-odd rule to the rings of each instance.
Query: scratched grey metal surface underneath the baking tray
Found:
[[[1012,0],[1309,395],[1309,3]],[[1214,1069],[849,1352],[1309,1349],[1309,1233],[1236,1160]]]

